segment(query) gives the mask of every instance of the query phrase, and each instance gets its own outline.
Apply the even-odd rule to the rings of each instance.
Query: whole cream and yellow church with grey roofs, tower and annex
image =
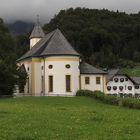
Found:
[[[28,75],[24,95],[75,96],[80,89],[106,93],[107,73],[84,62],[59,29],[45,35],[36,24],[30,50],[17,63]]]

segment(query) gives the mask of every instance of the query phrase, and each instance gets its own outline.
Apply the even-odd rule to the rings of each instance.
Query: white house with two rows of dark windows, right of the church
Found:
[[[109,70],[107,75],[107,95],[140,95],[140,78],[129,77],[119,69]]]

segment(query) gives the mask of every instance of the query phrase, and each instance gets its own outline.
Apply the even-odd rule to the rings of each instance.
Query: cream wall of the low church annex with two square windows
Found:
[[[85,84],[85,77],[89,77],[90,78],[90,84]],[[100,77],[101,83],[100,84],[96,84],[96,77]],[[104,91],[104,75],[88,75],[88,74],[82,74],[81,75],[81,89],[83,90],[99,90],[101,92],[105,92]]]

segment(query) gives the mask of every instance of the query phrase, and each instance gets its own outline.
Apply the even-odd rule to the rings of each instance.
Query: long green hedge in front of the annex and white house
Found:
[[[123,106],[128,108],[140,109],[140,100],[133,98],[120,98],[115,96],[107,96],[100,91],[90,91],[90,90],[79,90],[76,93],[76,96],[87,96],[97,100],[102,101],[103,103],[110,105]]]

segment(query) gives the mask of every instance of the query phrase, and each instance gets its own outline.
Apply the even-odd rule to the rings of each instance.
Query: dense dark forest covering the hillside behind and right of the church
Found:
[[[57,27],[93,65],[133,67],[133,61],[140,62],[139,13],[129,15],[105,9],[70,8],[55,15],[44,30],[48,33]]]

